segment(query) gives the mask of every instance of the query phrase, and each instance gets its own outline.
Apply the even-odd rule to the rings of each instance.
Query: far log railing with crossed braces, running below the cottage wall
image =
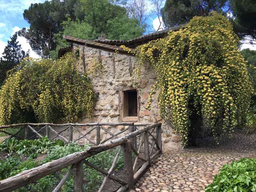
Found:
[[[90,145],[99,145],[107,142],[113,138],[119,138],[120,135],[127,130],[136,130],[138,127],[147,126],[149,124],[134,124],[134,123],[66,123],[66,124],[53,124],[53,123],[21,123],[21,124],[12,124],[7,126],[0,126],[0,132],[3,132],[7,135],[11,135],[11,137],[17,137],[18,139],[35,139],[42,138],[43,136],[47,136],[50,140],[54,140],[55,138],[62,139],[65,143],[70,142],[78,142],[81,139],[86,139],[87,143]],[[113,126],[128,126],[124,130],[118,133],[112,133],[110,130],[107,130],[105,127],[113,127]],[[81,130],[86,127],[87,133],[82,133]],[[92,128],[90,128],[92,127]],[[10,128],[18,128],[19,131],[12,134],[8,132]],[[57,131],[58,129],[59,132]],[[24,130],[24,134],[21,135],[21,130]],[[116,130],[116,129],[115,129]],[[68,131],[68,135],[64,135],[63,133]],[[74,132],[77,132],[79,137],[74,139]],[[96,132],[96,140],[92,140],[88,137],[91,133]],[[108,133],[110,137],[101,139],[102,133]]]

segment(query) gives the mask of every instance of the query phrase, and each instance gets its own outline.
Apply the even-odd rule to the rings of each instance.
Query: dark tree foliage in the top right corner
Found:
[[[256,43],[256,1],[255,0],[230,0],[233,11],[234,31],[244,40]],[[249,38],[247,37],[249,36]],[[248,42],[248,41],[247,41]]]

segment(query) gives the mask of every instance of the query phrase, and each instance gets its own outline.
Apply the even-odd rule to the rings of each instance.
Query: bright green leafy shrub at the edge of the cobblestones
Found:
[[[222,167],[206,192],[256,191],[256,159],[243,158]]]

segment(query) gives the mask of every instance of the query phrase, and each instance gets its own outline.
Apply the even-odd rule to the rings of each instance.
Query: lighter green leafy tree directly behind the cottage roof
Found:
[[[137,18],[129,18],[126,9],[120,6],[123,1],[110,0],[81,0],[81,12],[84,19],[73,21],[68,18],[62,22],[63,30],[55,34],[57,47],[50,51],[53,59],[57,58],[58,49],[66,46],[62,35],[82,39],[96,39],[106,34],[107,39],[124,39],[138,37],[143,34],[144,25]]]

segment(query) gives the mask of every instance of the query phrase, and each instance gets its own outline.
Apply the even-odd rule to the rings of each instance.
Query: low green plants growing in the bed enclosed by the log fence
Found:
[[[24,145],[24,146],[22,146]],[[42,138],[37,140],[16,140],[14,138],[5,140],[0,144],[0,151],[9,153],[12,150],[13,154],[7,159],[0,161],[0,180],[14,176],[21,171],[32,169],[44,163],[62,158],[69,154],[84,151],[89,145],[81,146],[77,143],[69,143],[65,145],[63,142],[49,141],[48,138]],[[10,149],[11,148],[11,149]],[[35,161],[34,159],[44,153],[47,149],[47,156],[42,161]],[[87,160],[92,164],[100,167],[101,169],[108,170],[112,165],[112,161],[117,153],[118,149],[104,151],[100,154],[92,156]],[[20,154],[19,156],[16,154]],[[24,160],[26,155],[27,159]],[[22,161],[23,160],[23,161]],[[123,166],[122,154],[119,156],[115,170],[120,169]],[[62,169],[55,174],[48,175],[39,179],[36,183],[31,183],[26,187],[22,187],[17,192],[27,191],[42,191],[51,192],[58,182],[63,178],[65,173],[70,169],[70,166]],[[96,191],[103,180],[103,176],[94,169],[91,169],[84,164],[84,191],[92,192]],[[74,186],[74,175],[72,174],[68,181],[62,187],[64,192],[72,192]]]

